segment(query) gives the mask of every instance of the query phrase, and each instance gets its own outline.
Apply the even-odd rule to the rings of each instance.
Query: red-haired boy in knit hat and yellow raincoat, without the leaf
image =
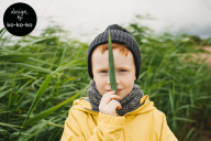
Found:
[[[111,91],[109,79],[109,28],[118,95]],[[74,101],[62,141],[177,141],[165,115],[134,85],[141,70],[141,53],[135,39],[118,24],[109,28],[89,46],[87,65],[91,80],[88,97]]]

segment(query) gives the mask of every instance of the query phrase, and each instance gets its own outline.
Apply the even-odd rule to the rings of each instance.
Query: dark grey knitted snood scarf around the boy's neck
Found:
[[[89,97],[89,101],[92,105],[96,105],[99,107],[102,95],[98,91],[96,82],[92,79],[90,80],[90,88],[87,90],[87,94]],[[142,104],[140,104],[140,100],[143,96],[144,96],[144,94],[142,90],[140,90],[140,86],[134,85],[132,91],[126,97],[119,100],[122,108],[116,109],[116,113],[119,116],[124,116],[125,113],[135,110],[136,108],[138,108],[142,105]]]

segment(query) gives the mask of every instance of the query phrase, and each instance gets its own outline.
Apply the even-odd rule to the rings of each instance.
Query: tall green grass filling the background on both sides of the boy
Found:
[[[188,141],[210,130],[211,70],[204,63],[184,58],[201,50],[182,35],[155,35],[138,22],[127,30],[142,56],[135,84],[166,113],[176,137]],[[58,26],[18,42],[3,34],[4,30],[0,33],[0,140],[59,140],[73,100],[87,96],[88,44],[66,39],[68,33]]]

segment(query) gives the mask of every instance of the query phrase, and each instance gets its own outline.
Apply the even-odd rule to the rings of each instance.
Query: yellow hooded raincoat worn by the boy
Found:
[[[62,141],[177,141],[166,117],[148,96],[140,108],[114,117],[93,111],[85,97],[74,101],[65,121]]]

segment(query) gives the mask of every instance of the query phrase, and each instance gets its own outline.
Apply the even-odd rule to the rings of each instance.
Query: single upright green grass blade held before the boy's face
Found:
[[[115,67],[113,62],[113,51],[112,51],[112,42],[109,29],[109,78],[111,84],[111,90],[115,90],[115,95],[118,95],[116,80],[115,80]]]

